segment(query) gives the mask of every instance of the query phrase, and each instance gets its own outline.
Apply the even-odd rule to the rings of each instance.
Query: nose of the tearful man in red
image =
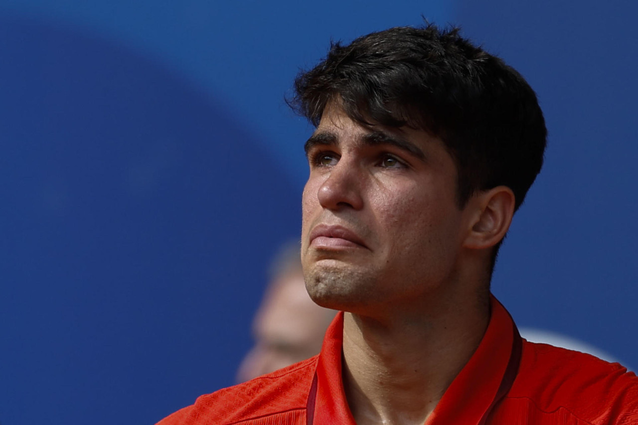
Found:
[[[357,165],[341,158],[323,181],[317,193],[319,204],[325,209],[361,209],[363,207],[363,177]]]

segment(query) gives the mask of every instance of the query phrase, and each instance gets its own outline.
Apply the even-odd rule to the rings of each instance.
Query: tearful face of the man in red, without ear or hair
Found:
[[[306,151],[301,257],[315,302],[380,311],[454,280],[469,218],[457,206],[456,166],[441,140],[367,128],[333,104]]]

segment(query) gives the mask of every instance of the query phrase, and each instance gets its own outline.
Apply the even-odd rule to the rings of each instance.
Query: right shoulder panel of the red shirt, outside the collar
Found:
[[[507,399],[588,424],[638,424],[638,377],[618,363],[523,341],[519,374]]]

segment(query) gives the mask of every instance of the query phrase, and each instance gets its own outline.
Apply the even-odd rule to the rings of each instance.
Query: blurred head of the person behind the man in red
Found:
[[[304,285],[299,242],[274,260],[270,282],[253,320],[255,345],[237,371],[237,382],[284,368],[318,354],[334,311],[313,302]]]

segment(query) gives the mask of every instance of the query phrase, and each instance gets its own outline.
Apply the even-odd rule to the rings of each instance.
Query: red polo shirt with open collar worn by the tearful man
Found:
[[[306,361],[201,396],[158,425],[355,425],[341,380],[343,312]],[[425,425],[638,424],[638,378],[618,363],[521,338],[491,298],[479,347]]]

